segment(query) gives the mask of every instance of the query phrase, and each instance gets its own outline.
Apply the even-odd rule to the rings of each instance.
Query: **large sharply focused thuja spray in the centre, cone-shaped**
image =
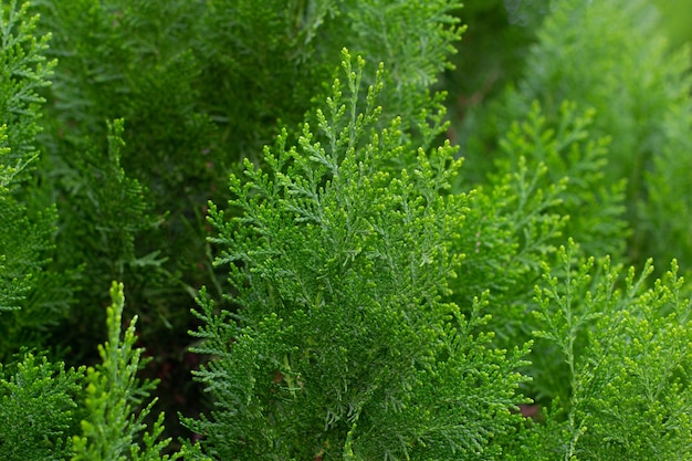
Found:
[[[525,350],[475,333],[483,302],[468,317],[445,302],[460,161],[449,144],[402,144],[399,121],[379,118],[381,71],[363,101],[364,62],[343,65],[316,128],[294,146],[284,132],[266,172],[247,161],[247,179],[231,178],[240,214],[210,207],[241,310],[200,298],[197,350],[214,359],[198,379],[214,407],[187,423],[219,460],[493,459]]]

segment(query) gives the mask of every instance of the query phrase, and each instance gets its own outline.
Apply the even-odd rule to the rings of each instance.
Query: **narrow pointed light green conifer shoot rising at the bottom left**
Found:
[[[106,321],[108,340],[98,347],[102,364],[86,369],[85,418],[81,421],[82,434],[73,439],[72,461],[177,459],[160,457],[169,443],[169,440],[157,441],[164,430],[164,413],[141,434],[147,429],[144,419],[156,402],[156,399],[146,402],[156,383],[137,378],[144,363],[143,349],[134,348],[136,317],[120,337],[125,301],[122,284],[113,283],[111,298],[113,304]]]

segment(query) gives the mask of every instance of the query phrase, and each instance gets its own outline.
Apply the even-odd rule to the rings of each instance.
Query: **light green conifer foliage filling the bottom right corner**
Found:
[[[647,287],[650,263],[622,280],[608,259],[576,253],[573,242],[563,247],[562,266],[546,265],[536,289],[536,336],[559,349],[569,388],[546,429],[531,436],[532,459],[688,459],[692,303],[681,296],[677,263]]]

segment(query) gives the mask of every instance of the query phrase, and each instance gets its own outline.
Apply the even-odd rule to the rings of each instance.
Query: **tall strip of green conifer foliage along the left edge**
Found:
[[[54,65],[44,57],[49,35],[36,38],[36,21],[28,4],[12,1],[0,11],[0,360],[22,345],[43,343],[36,329],[55,324],[67,308],[65,275],[45,271],[55,210],[29,188],[39,156],[38,92]]]

